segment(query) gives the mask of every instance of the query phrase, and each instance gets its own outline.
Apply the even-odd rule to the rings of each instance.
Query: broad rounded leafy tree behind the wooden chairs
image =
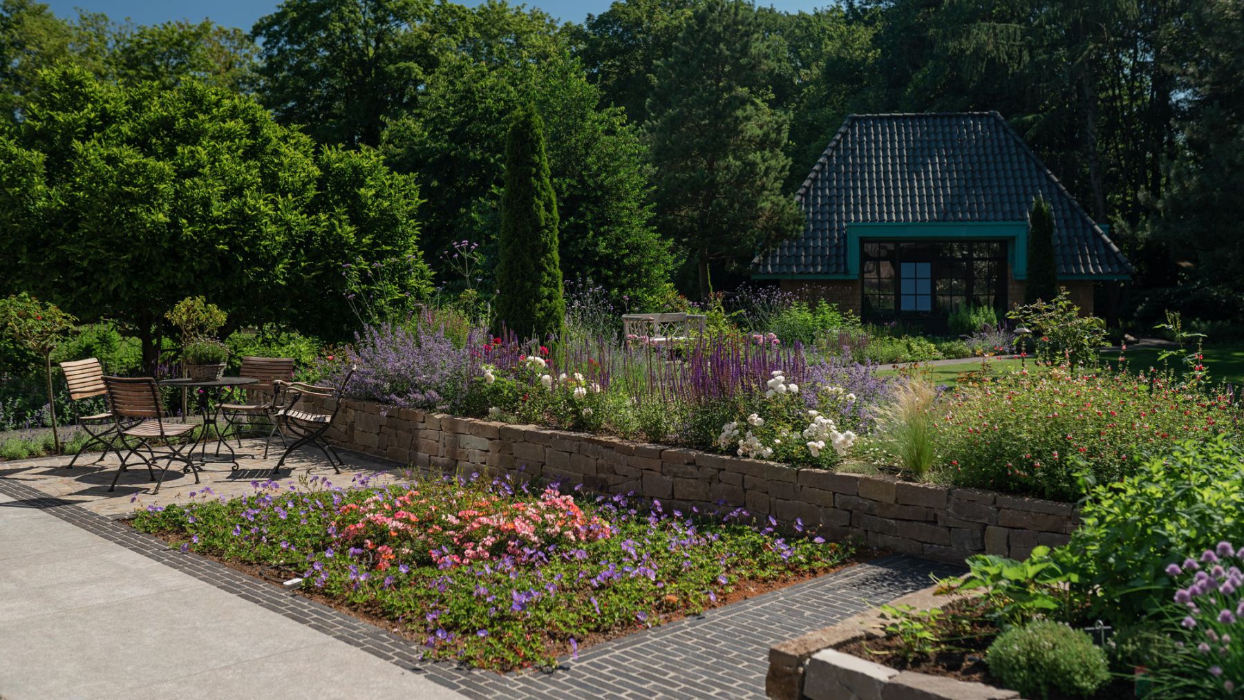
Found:
[[[374,150],[317,149],[193,80],[122,86],[62,67],[0,134],[9,283],[129,325],[148,369],[163,312],[188,296],[234,327],[342,337],[341,261],[418,256],[417,206],[412,179]]]

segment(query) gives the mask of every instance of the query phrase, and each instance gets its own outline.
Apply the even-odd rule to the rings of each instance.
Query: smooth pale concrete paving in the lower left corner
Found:
[[[22,505],[0,495],[4,698],[462,698]],[[36,530],[78,542],[9,556]]]

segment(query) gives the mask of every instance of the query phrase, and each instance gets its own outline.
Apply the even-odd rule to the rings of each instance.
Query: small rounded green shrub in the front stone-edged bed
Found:
[[[1051,620],[1004,632],[985,661],[989,673],[1025,698],[1087,698],[1110,680],[1105,652],[1084,632]]]

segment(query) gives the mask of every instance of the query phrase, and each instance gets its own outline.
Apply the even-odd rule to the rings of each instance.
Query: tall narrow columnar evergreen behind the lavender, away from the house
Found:
[[[519,109],[505,143],[496,318],[520,338],[562,336],[566,302],[557,259],[557,195],[549,178],[544,119]]]

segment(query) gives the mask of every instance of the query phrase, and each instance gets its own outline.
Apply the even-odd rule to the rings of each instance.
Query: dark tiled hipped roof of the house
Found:
[[[756,256],[760,275],[847,272],[852,223],[1026,221],[1054,208],[1059,275],[1131,264],[998,112],[851,114],[799,189],[804,235]]]

